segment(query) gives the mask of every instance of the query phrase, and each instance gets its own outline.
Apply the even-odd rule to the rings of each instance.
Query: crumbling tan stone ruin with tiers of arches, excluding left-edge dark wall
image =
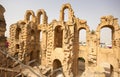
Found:
[[[112,30],[111,48],[100,46],[100,30],[105,27]],[[86,45],[79,44],[81,29],[86,30]],[[59,20],[51,23],[43,9],[36,14],[27,10],[23,20],[10,26],[7,55],[15,59],[11,67],[21,70],[16,77],[120,77],[119,50],[117,18],[103,16],[91,31],[87,21],[77,18],[67,3],[60,9]]]

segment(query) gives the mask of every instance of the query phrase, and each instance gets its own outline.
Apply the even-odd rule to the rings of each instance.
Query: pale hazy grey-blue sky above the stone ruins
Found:
[[[71,4],[76,17],[87,21],[90,30],[96,30],[100,17],[105,15],[113,15],[120,23],[120,0],[0,0],[0,4],[6,9],[4,15],[7,31],[5,35],[9,37],[10,25],[23,20],[26,10],[33,10],[36,13],[38,9],[44,9],[50,23],[53,19],[59,19],[61,6],[65,3]],[[103,36],[108,36],[110,33],[106,31]],[[84,34],[84,31],[82,32]]]

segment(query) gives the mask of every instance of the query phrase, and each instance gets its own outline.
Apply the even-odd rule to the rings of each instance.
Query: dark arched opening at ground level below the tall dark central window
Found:
[[[52,77],[64,77],[62,64],[58,59],[53,61],[53,74]]]

